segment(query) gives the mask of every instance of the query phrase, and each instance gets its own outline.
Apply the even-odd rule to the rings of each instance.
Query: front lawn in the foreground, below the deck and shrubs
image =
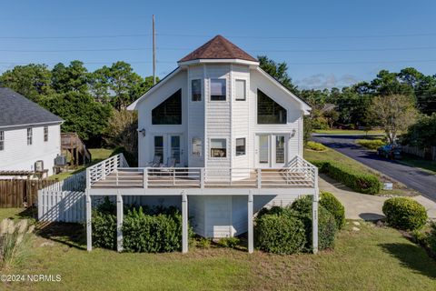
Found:
[[[0,209],[0,216],[4,209]],[[7,214],[9,216],[9,214]],[[188,254],[84,250],[83,226],[33,237],[24,264],[2,274],[61,275],[62,281],[3,284],[3,290],[433,290],[436,262],[391,228],[344,226],[335,249],[279,256],[212,246]],[[56,230],[57,229],[57,230]],[[72,236],[76,234],[76,236]]]

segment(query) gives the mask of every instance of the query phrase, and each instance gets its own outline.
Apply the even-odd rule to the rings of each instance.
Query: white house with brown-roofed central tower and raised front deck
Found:
[[[318,172],[302,158],[302,117],[311,108],[257,59],[217,35],[129,109],[138,112],[139,167],[114,156],[87,169],[88,249],[92,196],[117,196],[119,244],[122,206],[133,197],[182,209],[183,251],[188,216],[200,236],[248,231],[253,251],[253,214],[310,195],[316,251]]]

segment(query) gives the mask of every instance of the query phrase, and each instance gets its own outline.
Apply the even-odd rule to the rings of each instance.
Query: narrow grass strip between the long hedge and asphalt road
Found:
[[[315,152],[311,150],[304,149],[304,158],[308,161],[322,161],[322,160],[331,160],[342,164],[343,166],[348,166],[356,171],[372,174],[379,177],[381,181],[391,181],[393,183],[392,190],[381,190],[379,195],[398,195],[398,196],[415,196],[416,192],[411,189],[408,189],[406,186],[401,184],[400,182],[391,180],[390,177],[382,175],[380,172],[375,171],[374,169],[363,165],[362,163],[352,159],[351,157],[342,155],[340,152],[335,151],[334,149],[328,147],[326,151],[323,152]]]

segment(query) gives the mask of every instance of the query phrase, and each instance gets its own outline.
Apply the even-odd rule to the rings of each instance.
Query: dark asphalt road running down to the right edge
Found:
[[[313,141],[332,147],[345,156],[350,156],[386,176],[391,176],[405,186],[420,192],[422,196],[426,196],[436,202],[436,175],[431,175],[412,166],[402,165],[396,161],[381,158],[376,153],[355,144],[355,140],[359,138],[364,138],[364,136],[312,135]]]

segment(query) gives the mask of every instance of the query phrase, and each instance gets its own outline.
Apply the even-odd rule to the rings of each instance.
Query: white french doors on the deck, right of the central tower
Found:
[[[256,166],[261,168],[282,167],[286,162],[287,135],[260,134],[255,140]]]

